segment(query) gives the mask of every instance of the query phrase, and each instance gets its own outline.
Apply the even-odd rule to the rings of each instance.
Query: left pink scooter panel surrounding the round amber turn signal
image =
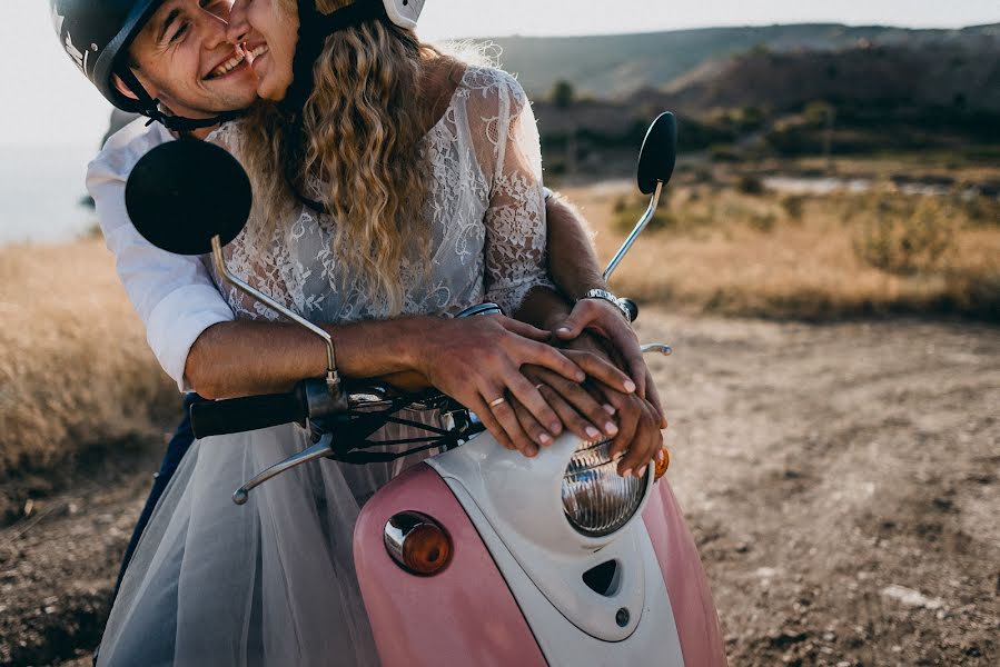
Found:
[[[389,557],[383,530],[406,510],[434,517],[452,537],[452,561],[444,571],[418,577]],[[479,534],[429,466],[414,466],[365,505],[354,559],[385,667],[546,664]]]

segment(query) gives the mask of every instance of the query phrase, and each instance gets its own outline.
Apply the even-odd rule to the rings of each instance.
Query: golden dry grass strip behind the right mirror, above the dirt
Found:
[[[602,258],[645,207],[626,183],[565,193],[596,229]],[[680,186],[612,282],[640,300],[729,315],[997,321],[1000,205],[888,190],[803,197]]]

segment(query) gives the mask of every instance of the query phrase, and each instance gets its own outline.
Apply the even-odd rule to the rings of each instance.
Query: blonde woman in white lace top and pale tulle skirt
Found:
[[[328,4],[321,9],[343,2]],[[257,54],[259,92],[287,102],[294,3],[238,2],[234,21],[244,18],[253,26],[246,44]],[[405,349],[375,345],[365,368],[349,359],[362,377],[412,371],[435,382],[442,344],[417,313],[453,316],[494,300],[529,321],[546,319],[556,305],[552,292],[535,289],[547,285],[538,139],[513,78],[445,58],[375,19],[326,39],[315,88],[305,100],[299,94],[293,89],[284,109],[261,107],[214,136],[255,182],[251,220],[227,247],[234,272],[317,321],[423,322],[399,341]],[[271,316],[226,293],[245,318]],[[561,369],[580,372],[552,364]],[[515,416],[504,405],[514,402],[515,388],[439,388],[475,407],[495,432],[515,419],[545,444],[537,419],[548,424],[548,415]],[[386,428],[380,437],[407,434]],[[99,665],[377,664],[352,561],[353,527],[364,501],[415,460],[325,460],[260,487],[247,506],[230,502],[245,479],[307,445],[286,426],[192,446],[126,574]]]

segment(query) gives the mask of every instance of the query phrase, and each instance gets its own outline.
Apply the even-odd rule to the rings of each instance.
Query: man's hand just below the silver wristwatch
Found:
[[[556,338],[572,341],[585,331],[593,331],[608,341],[613,351],[623,362],[623,368],[635,381],[636,394],[648,401],[656,414],[660,428],[666,428],[666,417],[660,405],[660,394],[653,376],[643,359],[638,338],[632,326],[622,317],[622,311],[603,299],[581,299],[570,317],[554,328]]]

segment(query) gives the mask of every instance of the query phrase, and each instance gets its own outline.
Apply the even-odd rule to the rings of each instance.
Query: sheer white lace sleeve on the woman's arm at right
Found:
[[[493,73],[495,81],[484,91],[489,107],[495,103],[493,112],[471,117],[486,121],[492,145],[487,156],[493,163],[484,165],[484,172],[492,176],[484,219],[486,299],[513,315],[532,288],[553,287],[545,257],[542,148],[535,115],[521,84],[506,72]]]

